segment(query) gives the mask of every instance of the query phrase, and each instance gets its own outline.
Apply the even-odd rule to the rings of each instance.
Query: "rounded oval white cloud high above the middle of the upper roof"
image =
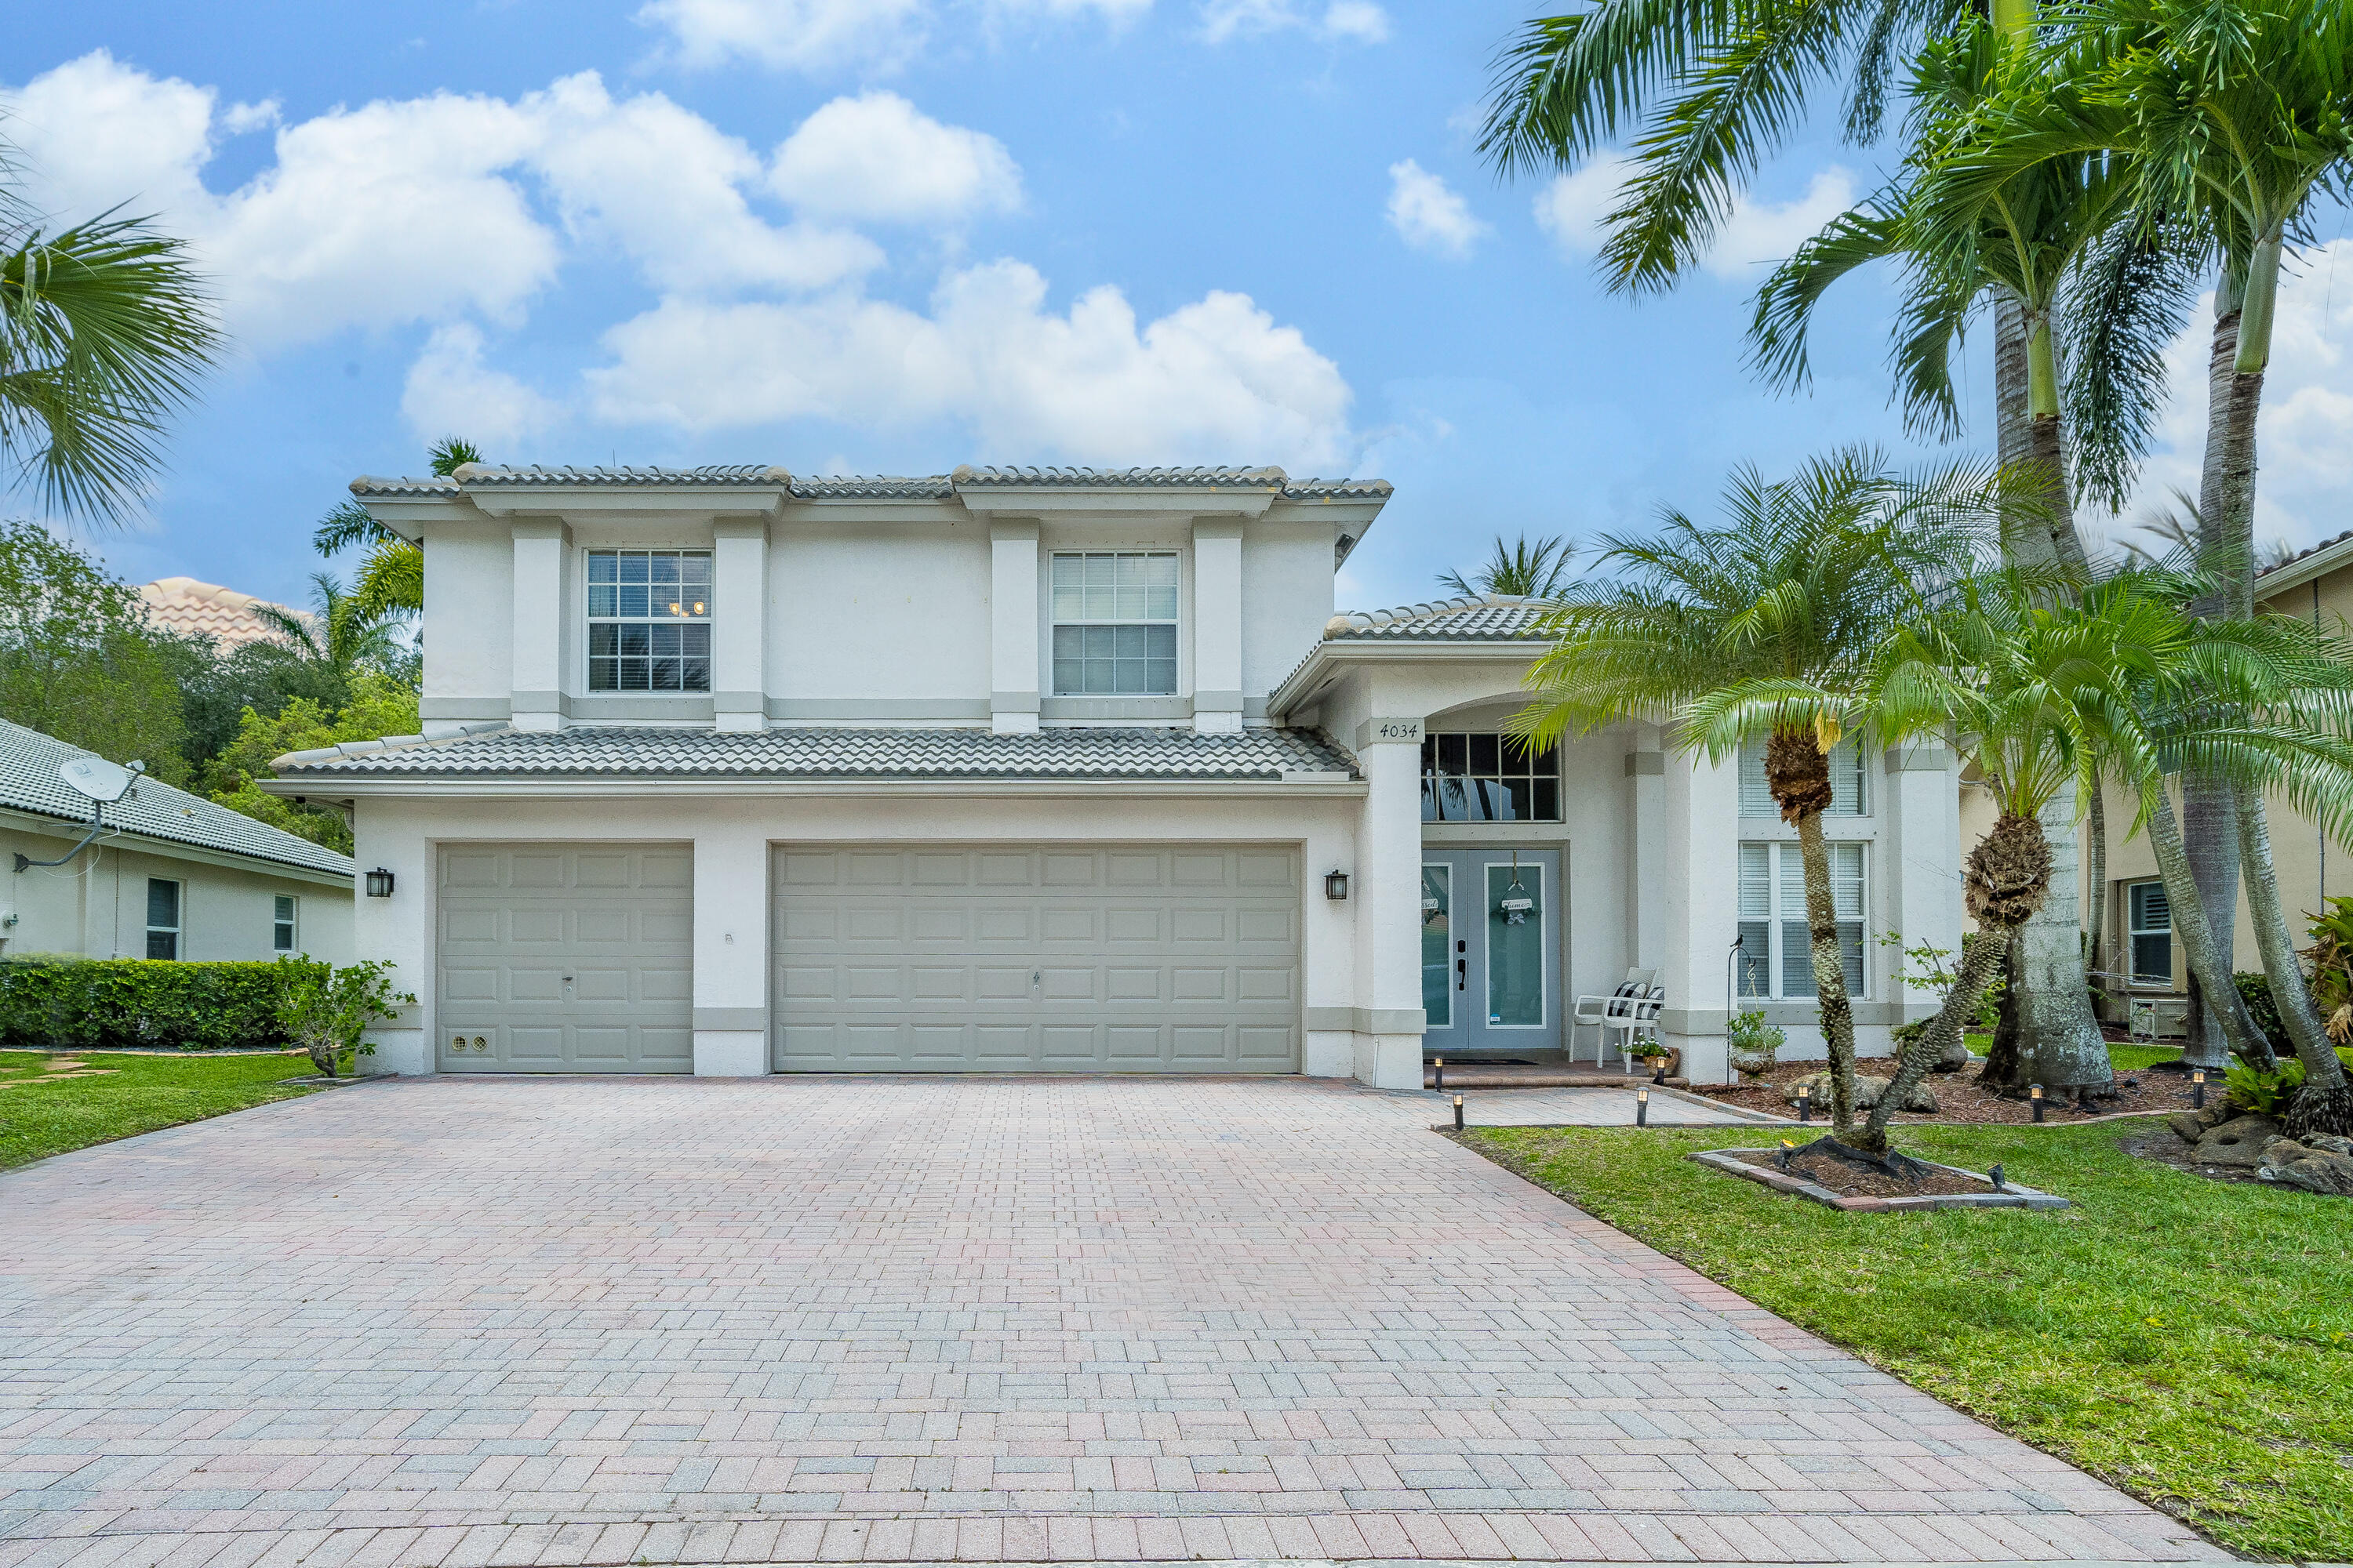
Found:
[[[805,212],[953,223],[1016,209],[1021,169],[995,136],[868,92],[802,120],[776,148],[769,188]]]

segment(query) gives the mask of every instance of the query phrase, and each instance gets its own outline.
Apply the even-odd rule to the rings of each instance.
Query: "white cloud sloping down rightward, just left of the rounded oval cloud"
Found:
[[[861,235],[758,219],[741,190],[760,179],[753,150],[659,92],[614,103],[586,71],[525,110],[567,228],[616,244],[659,289],[819,289],[882,266]]]

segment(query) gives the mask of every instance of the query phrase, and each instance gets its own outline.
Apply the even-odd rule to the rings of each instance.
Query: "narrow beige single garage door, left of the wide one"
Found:
[[[692,1072],[685,844],[445,844],[442,1072]]]

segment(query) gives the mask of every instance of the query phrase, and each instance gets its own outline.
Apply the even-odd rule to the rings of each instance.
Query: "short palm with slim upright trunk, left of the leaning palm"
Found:
[[[1711,762],[1765,743],[1765,780],[1798,830],[1807,938],[1831,1056],[1831,1121],[1854,1126],[1854,1011],[1838,945],[1821,813],[1831,748],[1875,729],[1866,677],[1922,583],[1993,538],[1986,475],[1906,482],[1871,451],[1817,458],[1784,482],[1725,487],[1725,522],[1666,512],[1657,538],[1605,538],[1624,569],[1548,618],[1558,642],[1527,675],[1515,729],[1537,743],[1661,715],[1668,741]]]

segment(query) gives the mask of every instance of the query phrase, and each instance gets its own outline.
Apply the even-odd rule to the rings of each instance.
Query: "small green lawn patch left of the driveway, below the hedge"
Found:
[[[31,1081],[47,1077],[52,1060],[82,1063],[87,1077]],[[299,1051],[268,1056],[85,1051],[73,1058],[0,1051],[0,1171],[45,1154],[311,1093],[285,1081],[308,1072],[313,1072],[311,1058]]]

